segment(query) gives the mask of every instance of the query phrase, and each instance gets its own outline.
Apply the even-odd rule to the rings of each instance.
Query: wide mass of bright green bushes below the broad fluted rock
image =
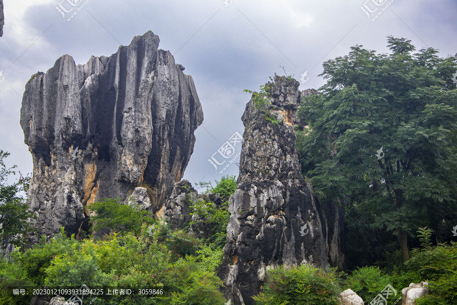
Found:
[[[138,237],[113,233],[106,240],[77,241],[62,232],[23,253],[14,251],[10,261],[0,263],[0,304],[30,303],[30,299],[12,298],[8,286],[79,288],[84,284],[90,288],[147,287],[169,292],[143,299],[113,296],[98,299],[96,304],[223,304],[218,291],[221,283],[214,273],[220,254],[214,258],[203,247],[197,256],[173,260],[167,246],[157,241],[164,238],[160,234],[159,229],[143,226]]]

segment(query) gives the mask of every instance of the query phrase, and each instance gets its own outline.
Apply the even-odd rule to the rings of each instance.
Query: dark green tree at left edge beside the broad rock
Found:
[[[25,247],[27,240],[25,234],[35,229],[27,222],[27,219],[35,219],[30,212],[28,203],[20,195],[28,190],[30,177],[22,176],[11,185],[6,180],[9,175],[15,175],[17,168],[5,166],[4,159],[10,155],[7,151],[0,150],[0,247],[12,243],[17,247]]]

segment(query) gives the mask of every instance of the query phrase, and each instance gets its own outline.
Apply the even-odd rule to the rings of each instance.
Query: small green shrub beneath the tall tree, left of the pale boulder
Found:
[[[364,301],[373,299],[388,284],[393,284],[392,279],[382,275],[379,267],[374,266],[357,268],[345,281],[345,287],[352,289]],[[397,288],[396,290],[398,291]]]

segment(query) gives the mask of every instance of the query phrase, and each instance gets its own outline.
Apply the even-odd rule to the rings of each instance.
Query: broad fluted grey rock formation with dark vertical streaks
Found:
[[[60,226],[76,233],[89,204],[126,203],[144,184],[148,192],[135,196],[153,194],[155,212],[182,178],[203,112],[192,77],[158,44],[148,32],[85,65],[64,55],[27,83],[20,123],[34,162],[28,198],[39,234]]]

